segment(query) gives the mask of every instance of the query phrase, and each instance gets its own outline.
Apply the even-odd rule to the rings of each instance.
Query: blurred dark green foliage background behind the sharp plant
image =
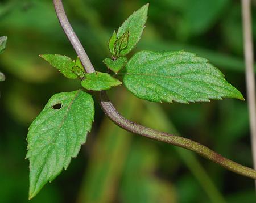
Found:
[[[236,0],[64,0],[86,52],[98,71],[109,57],[114,29],[150,2],[138,50],[181,50],[208,58],[246,98],[241,2]],[[253,1],[256,41],[256,1]],[[80,88],[39,54],[76,57],[55,15],[52,1],[1,0],[0,202],[28,202],[27,128],[57,92]],[[132,56],[132,54],[130,56]],[[247,102],[156,104],[123,87],[109,91],[128,119],[200,142],[252,167]],[[96,104],[86,145],[67,171],[31,202],[256,202],[254,181],[226,171],[188,150],[127,133]]]

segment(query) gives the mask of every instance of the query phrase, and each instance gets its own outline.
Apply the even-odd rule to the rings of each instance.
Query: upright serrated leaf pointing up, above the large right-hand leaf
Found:
[[[144,24],[147,20],[147,11],[148,3],[142,6],[138,11],[135,11],[127,20],[125,20],[122,26],[119,27],[117,39],[121,39],[122,36],[125,36],[124,38],[126,39],[129,35],[127,46],[120,50],[120,56],[128,54],[141,39]]]

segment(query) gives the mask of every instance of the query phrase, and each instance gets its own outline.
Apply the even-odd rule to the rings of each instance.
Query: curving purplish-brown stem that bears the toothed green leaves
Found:
[[[84,65],[85,70],[88,73],[92,73],[95,70],[84,48],[82,47],[79,39],[77,38],[70,23],[68,22],[67,16],[65,15],[62,1],[53,0],[53,3],[55,5],[55,10],[59,18],[60,24],[63,27],[64,32],[67,35],[69,41],[71,41],[73,48],[76,50],[76,53],[80,57],[82,65]],[[185,149],[194,151],[197,154],[200,154],[201,156],[208,158],[215,163],[220,164],[221,166],[227,168],[230,171],[236,172],[237,174],[241,174],[243,176],[256,179],[255,170],[242,166],[241,164],[233,162],[232,160],[226,159],[222,157],[220,154],[210,150],[208,147],[201,145],[200,143],[191,141],[190,139],[187,139],[187,138],[174,136],[172,134],[168,134],[164,132],[159,132],[158,130],[147,128],[145,126],[135,124],[134,122],[125,119],[122,115],[119,114],[117,109],[115,109],[113,104],[110,102],[108,95],[106,94],[106,91],[97,92],[97,96],[100,101],[102,110],[105,112],[105,114],[109,117],[110,120],[112,120],[115,124],[117,124],[121,128],[147,138],[170,143],[171,145],[180,146]]]

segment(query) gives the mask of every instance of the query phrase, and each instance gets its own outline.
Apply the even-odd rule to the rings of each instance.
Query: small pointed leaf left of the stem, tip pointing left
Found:
[[[48,61],[53,67],[60,71],[65,77],[76,79],[77,75],[73,73],[73,66],[76,62],[71,58],[62,55],[44,54],[40,55],[44,60]]]

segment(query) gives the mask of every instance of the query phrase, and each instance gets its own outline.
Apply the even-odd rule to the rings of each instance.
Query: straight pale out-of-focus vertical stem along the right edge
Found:
[[[249,119],[251,132],[251,147],[253,151],[253,163],[256,168],[256,95],[255,95],[255,76],[253,60],[253,31],[251,28],[251,0],[242,0],[242,19],[243,19],[243,44],[246,64],[246,88],[249,104]],[[256,185],[256,180],[255,180]]]

